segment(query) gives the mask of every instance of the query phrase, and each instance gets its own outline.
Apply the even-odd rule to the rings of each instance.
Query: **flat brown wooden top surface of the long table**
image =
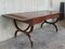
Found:
[[[53,14],[58,14],[60,12],[56,11],[35,11],[35,12],[23,12],[23,13],[13,13],[13,14],[3,14],[2,16],[20,20],[20,21],[27,21],[37,17],[49,16]]]

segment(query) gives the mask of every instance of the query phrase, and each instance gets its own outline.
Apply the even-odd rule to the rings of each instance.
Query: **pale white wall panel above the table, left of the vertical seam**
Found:
[[[48,0],[1,0],[0,2],[1,13],[38,11],[48,9]]]

